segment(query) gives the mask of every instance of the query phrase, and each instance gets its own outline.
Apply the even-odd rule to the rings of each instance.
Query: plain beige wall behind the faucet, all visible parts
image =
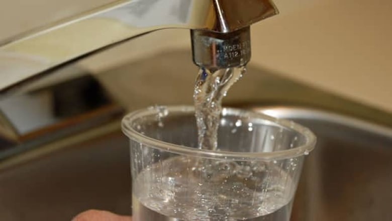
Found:
[[[6,1],[9,10],[0,8],[0,27],[6,30],[0,32],[0,39],[42,21],[83,11],[91,4],[110,2]],[[20,11],[18,5],[33,5],[31,2],[40,5]],[[392,112],[392,1],[275,2],[280,15],[252,27],[253,64]],[[189,47],[188,31],[158,31],[90,57],[81,65],[97,72],[157,51],[184,47]]]

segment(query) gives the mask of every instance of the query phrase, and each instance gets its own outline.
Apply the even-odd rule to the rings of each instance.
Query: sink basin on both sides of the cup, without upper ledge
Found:
[[[392,130],[310,108],[249,107],[311,128],[291,220],[391,220]],[[89,208],[129,214],[128,141],[120,131],[76,142],[0,173],[1,220],[70,220]]]

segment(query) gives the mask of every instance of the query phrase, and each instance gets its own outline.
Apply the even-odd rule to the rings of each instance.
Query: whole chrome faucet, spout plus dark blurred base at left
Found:
[[[123,107],[92,76],[58,81],[85,73],[67,65],[72,61],[183,28],[190,29],[196,65],[243,66],[251,56],[249,26],[277,13],[272,0],[121,0],[0,42],[0,160],[122,116]]]

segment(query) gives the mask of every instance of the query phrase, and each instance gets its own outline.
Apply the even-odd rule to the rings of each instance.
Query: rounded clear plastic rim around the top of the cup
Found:
[[[194,112],[193,106],[164,106],[168,113],[192,113]],[[290,120],[278,119],[263,113],[254,112],[251,110],[241,110],[236,108],[223,108],[222,115],[244,115],[246,114],[250,118],[266,120],[274,124],[278,124],[286,129],[294,130],[305,137],[305,144],[297,146],[296,148],[274,151],[274,152],[227,152],[227,151],[212,151],[202,150],[197,148],[190,148],[184,145],[178,145],[173,143],[164,142],[158,139],[148,137],[135,129],[132,128],[132,122],[141,117],[150,115],[156,115],[158,113],[157,108],[145,108],[133,111],[127,114],[122,120],[123,133],[128,136],[131,140],[146,144],[147,146],[159,149],[165,152],[170,152],[179,155],[187,155],[191,157],[208,158],[208,159],[221,159],[221,160],[233,160],[233,161],[271,161],[271,160],[282,160],[288,158],[296,158],[299,156],[309,154],[315,147],[316,136],[315,134],[305,126],[295,123]]]

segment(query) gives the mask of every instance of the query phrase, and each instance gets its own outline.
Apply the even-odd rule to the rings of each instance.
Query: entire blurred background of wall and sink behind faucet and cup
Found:
[[[111,2],[3,0],[0,42]],[[392,2],[274,2],[280,14],[251,26],[248,73],[226,105],[296,120],[318,136],[292,220],[391,220]],[[9,62],[0,53],[0,76]],[[192,104],[197,71],[189,30],[160,30],[0,97],[0,219],[129,214],[121,118]]]

